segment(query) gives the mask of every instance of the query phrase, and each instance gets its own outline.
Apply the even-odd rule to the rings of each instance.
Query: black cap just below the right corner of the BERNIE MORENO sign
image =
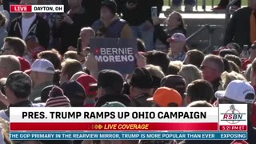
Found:
[[[146,68],[136,68],[130,78],[130,86],[138,87],[141,89],[150,89],[154,88],[154,81]]]

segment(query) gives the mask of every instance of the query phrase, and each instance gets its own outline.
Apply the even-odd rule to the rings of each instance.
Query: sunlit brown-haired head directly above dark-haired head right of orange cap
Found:
[[[185,78],[186,86],[194,80],[202,79],[202,72],[194,65],[183,65],[178,75]]]

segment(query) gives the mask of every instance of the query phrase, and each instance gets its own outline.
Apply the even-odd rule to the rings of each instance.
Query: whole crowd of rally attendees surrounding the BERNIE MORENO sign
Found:
[[[175,2],[175,1],[173,1]],[[182,1],[179,1],[182,2]],[[193,1],[191,5],[194,5]],[[162,0],[21,0],[63,4],[64,14],[0,13],[0,143],[256,143],[256,1],[237,10],[213,54],[186,46],[186,24],[174,11],[166,30],[151,7]],[[77,41],[81,38],[81,51]],[[138,38],[131,74],[98,70],[90,38]],[[166,50],[154,50],[159,39]],[[246,45],[246,49],[244,49]],[[26,141],[9,138],[10,107],[214,107],[248,105],[245,141]]]

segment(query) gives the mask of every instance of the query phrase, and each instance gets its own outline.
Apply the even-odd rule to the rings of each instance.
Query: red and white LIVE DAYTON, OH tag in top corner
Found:
[[[64,13],[64,5],[10,5],[10,13]]]

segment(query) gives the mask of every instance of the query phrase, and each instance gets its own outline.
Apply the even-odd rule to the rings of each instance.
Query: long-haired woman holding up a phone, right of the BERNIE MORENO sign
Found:
[[[159,39],[163,44],[168,47],[169,42],[167,42],[167,39],[175,33],[181,33],[186,35],[186,28],[182,15],[175,11],[171,13],[168,18],[166,18],[166,22],[167,28],[166,30],[163,30],[162,26],[160,26],[160,20],[158,18],[153,18],[154,42]]]

